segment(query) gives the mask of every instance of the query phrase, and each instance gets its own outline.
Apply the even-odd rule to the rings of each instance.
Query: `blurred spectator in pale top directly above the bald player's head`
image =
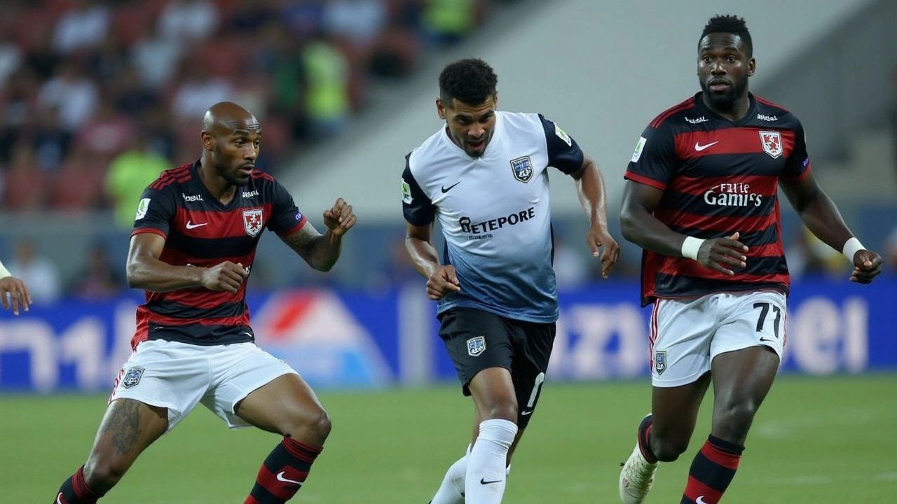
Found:
[[[176,118],[198,124],[205,110],[213,104],[234,99],[233,84],[210,75],[203,61],[185,62],[183,72],[183,78],[171,99],[171,113]]]

